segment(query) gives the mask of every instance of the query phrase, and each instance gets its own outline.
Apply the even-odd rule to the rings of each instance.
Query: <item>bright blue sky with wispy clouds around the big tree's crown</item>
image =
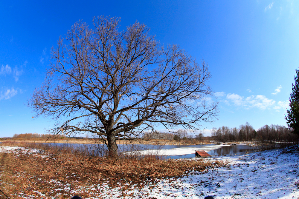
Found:
[[[136,20],[161,44],[179,44],[209,64],[219,116],[202,128],[286,125],[299,67],[298,1],[1,1],[0,137],[44,133],[54,121],[32,118],[27,98],[45,78],[50,49],[79,20]]]

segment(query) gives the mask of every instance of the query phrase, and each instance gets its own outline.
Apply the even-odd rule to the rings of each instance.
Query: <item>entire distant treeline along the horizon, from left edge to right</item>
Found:
[[[52,134],[38,134],[38,133],[21,133],[14,134],[12,138],[1,138],[2,140],[47,140]],[[83,137],[66,137],[65,135],[59,135],[56,139],[80,139],[88,140],[92,138]],[[190,141],[190,140],[206,140],[215,142],[234,142],[234,141],[298,141],[298,135],[292,133],[292,129],[288,129],[283,125],[265,125],[255,130],[248,122],[245,125],[240,125],[239,128],[230,128],[227,126],[219,127],[218,129],[213,127],[211,129],[210,136],[204,136],[202,132],[198,134],[187,132],[186,130],[179,129],[176,132],[151,132],[145,133],[142,139],[166,139],[176,141]]]

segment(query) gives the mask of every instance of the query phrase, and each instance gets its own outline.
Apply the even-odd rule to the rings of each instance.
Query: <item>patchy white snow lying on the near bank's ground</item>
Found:
[[[23,147],[0,147],[0,152],[37,153]],[[214,156],[206,161],[227,162],[226,166],[193,171],[179,178],[156,179],[147,184],[111,188],[108,183],[80,184],[74,188],[60,183],[72,194],[92,193],[89,198],[299,198],[298,152],[283,150],[243,155]],[[186,159],[192,161],[192,159]],[[38,190],[36,190],[38,193]],[[42,193],[38,193],[43,195]],[[96,197],[94,197],[96,195]],[[23,197],[23,198],[30,198]],[[43,198],[48,198],[44,195]]]

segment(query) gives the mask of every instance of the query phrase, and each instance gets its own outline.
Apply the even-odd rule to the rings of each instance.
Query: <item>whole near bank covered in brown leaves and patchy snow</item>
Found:
[[[181,160],[53,156],[0,147],[1,190],[10,198],[298,198],[298,151]]]

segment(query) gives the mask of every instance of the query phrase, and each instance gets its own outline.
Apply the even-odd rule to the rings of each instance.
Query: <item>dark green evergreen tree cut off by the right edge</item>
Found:
[[[286,124],[292,133],[299,135],[299,70],[296,69],[295,85],[292,85],[292,92],[290,96],[290,108],[286,109],[285,115]]]

